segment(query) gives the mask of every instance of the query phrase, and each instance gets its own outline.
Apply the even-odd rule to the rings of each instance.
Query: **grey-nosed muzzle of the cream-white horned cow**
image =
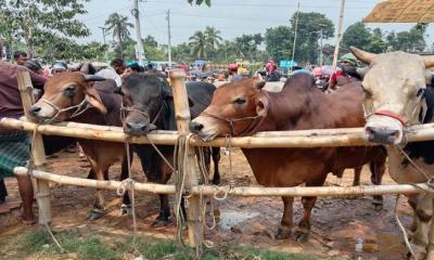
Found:
[[[365,134],[371,143],[395,145],[404,141],[404,127],[394,118],[372,116],[365,127]]]

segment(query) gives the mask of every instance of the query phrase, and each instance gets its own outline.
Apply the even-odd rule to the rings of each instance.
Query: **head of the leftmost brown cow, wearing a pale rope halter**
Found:
[[[106,108],[93,88],[94,81],[104,78],[81,73],[63,73],[51,77],[42,98],[34,104],[29,113],[38,121],[64,121],[95,107],[105,114]]]

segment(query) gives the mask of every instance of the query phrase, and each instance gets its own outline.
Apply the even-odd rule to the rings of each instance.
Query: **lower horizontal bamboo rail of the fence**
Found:
[[[27,174],[27,169],[24,167],[15,167],[14,173],[18,176]],[[37,179],[55,182],[64,185],[76,185],[85,187],[94,187],[102,190],[116,190],[120,182],[119,181],[97,181],[88,180],[76,177],[59,176],[50,172],[34,170],[34,177]],[[420,188],[418,188],[419,186]],[[212,185],[199,185],[193,186],[191,193],[199,195],[215,195],[224,192],[228,192],[228,195],[233,196],[348,196],[348,195],[382,195],[382,194],[413,194],[422,192],[421,188],[427,190],[426,184],[399,184],[399,185],[368,185],[368,186],[319,186],[319,187],[261,187],[261,186],[235,186],[229,188],[229,186],[212,186]],[[158,193],[158,194],[174,194],[175,185],[163,185],[156,183],[135,183],[135,190],[138,192],[146,193]]]

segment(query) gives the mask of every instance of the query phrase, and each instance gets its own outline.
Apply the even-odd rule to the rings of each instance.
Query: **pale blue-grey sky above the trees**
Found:
[[[301,0],[302,12],[319,12],[333,21],[339,20],[341,0]],[[361,21],[380,0],[346,0],[344,29]],[[140,23],[142,38],[153,36],[158,43],[167,43],[166,12],[170,9],[171,43],[178,44],[189,40],[196,30],[214,26],[221,31],[224,39],[233,39],[242,34],[264,34],[267,28],[288,25],[296,12],[297,0],[212,0],[212,6],[192,6],[187,0],[141,0]],[[80,42],[103,40],[102,30],[110,14],[118,12],[130,17],[132,0],[90,0],[85,4],[88,13],[79,16],[91,30],[91,36],[79,39]],[[368,24],[385,31],[409,29],[413,24]],[[434,40],[434,26],[427,30],[427,46]],[[135,30],[131,29],[135,38]],[[113,37],[108,36],[107,40]],[[332,39],[330,42],[334,42]]]

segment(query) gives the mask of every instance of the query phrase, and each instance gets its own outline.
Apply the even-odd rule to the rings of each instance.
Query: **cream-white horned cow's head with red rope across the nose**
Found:
[[[365,91],[365,126],[369,141],[381,144],[405,142],[404,129],[421,123],[424,117],[426,84],[434,57],[405,52],[372,54],[352,48],[350,51],[369,67],[359,70]]]

